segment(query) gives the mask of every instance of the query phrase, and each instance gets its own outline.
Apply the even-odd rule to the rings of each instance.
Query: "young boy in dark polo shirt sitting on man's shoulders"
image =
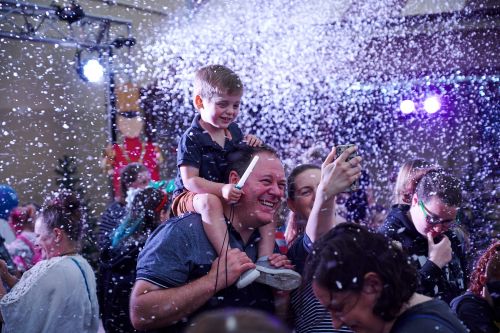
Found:
[[[193,103],[199,114],[182,135],[177,149],[178,173],[172,212],[175,215],[199,213],[205,233],[219,255],[229,248],[221,201],[236,203],[243,193],[233,184],[224,183],[225,156],[241,142],[250,146],[262,144],[255,136],[243,137],[234,123],[242,95],[243,84],[229,68],[210,65],[199,69],[193,89]],[[259,231],[258,253],[262,258],[273,253],[275,223],[263,226]],[[269,268],[265,267],[269,273]],[[279,275],[280,271],[286,270],[274,269],[272,274]],[[259,273],[266,274],[256,270],[245,272],[237,283],[238,288],[253,282]]]

